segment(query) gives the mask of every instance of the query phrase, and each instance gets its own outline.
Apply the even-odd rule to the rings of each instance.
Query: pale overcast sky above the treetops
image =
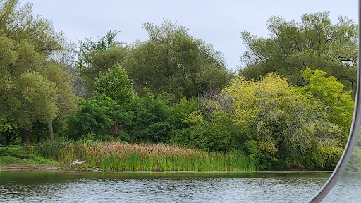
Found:
[[[337,23],[338,16],[358,23],[357,0],[20,0],[20,5],[25,3],[33,4],[35,15],[52,20],[54,29],[77,45],[78,40],[97,39],[109,29],[120,31],[118,42],[145,41],[143,23],[161,25],[171,20],[187,27],[193,37],[213,44],[230,70],[243,66],[240,57],[246,47],[240,32],[268,37],[266,22],[271,16],[300,22],[302,14],[330,11],[332,23]]]

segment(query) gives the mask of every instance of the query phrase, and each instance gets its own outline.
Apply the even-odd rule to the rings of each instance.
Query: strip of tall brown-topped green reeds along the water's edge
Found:
[[[78,160],[82,167],[123,171],[256,171],[240,152],[204,152],[162,144],[124,144],[69,140],[25,146],[31,154],[63,164]]]

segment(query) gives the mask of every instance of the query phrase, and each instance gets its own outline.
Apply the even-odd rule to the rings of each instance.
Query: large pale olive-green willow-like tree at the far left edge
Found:
[[[49,20],[33,16],[31,4],[0,1],[0,19],[0,114],[24,144],[37,123],[51,124],[76,109],[61,63],[71,44]]]

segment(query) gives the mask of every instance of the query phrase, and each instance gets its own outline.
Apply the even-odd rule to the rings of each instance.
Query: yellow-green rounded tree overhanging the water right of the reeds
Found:
[[[341,133],[326,110],[279,75],[237,78],[222,95],[233,102],[233,122],[246,137],[240,145],[261,168],[322,168],[325,144],[340,155]]]

